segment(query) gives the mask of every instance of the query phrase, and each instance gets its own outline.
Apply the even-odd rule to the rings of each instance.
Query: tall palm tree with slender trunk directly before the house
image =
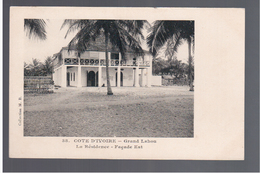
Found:
[[[140,38],[143,38],[141,29],[146,21],[135,20],[65,20],[62,27],[69,25],[66,36],[75,30],[79,30],[69,43],[69,50],[76,47],[77,52],[82,53],[98,37],[105,37],[107,95],[113,95],[108,70],[108,45],[119,49],[122,58],[127,50],[143,54],[140,46]],[[65,36],[65,38],[66,38]]]

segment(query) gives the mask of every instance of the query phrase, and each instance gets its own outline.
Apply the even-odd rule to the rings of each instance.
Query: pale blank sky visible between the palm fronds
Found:
[[[43,62],[48,56],[53,56],[53,54],[58,53],[62,47],[66,47],[70,40],[75,36],[76,31],[70,33],[65,39],[65,35],[68,27],[64,27],[61,29],[61,25],[64,20],[57,19],[49,19],[46,20],[46,32],[47,39],[40,40],[37,38],[29,39],[24,32],[24,61],[26,63],[31,63],[33,58],[36,58]],[[149,21],[152,23],[152,21]],[[147,33],[143,33],[146,37]],[[145,41],[142,44],[144,50],[148,50]],[[178,53],[176,54],[178,60],[182,60],[182,62],[188,61],[188,44],[183,43],[178,48]],[[161,55],[163,57],[163,55]]]

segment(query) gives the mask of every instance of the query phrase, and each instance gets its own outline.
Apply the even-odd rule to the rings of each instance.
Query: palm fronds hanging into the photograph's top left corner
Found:
[[[27,31],[29,38],[36,37],[45,40],[46,22],[43,19],[24,19],[24,30]]]

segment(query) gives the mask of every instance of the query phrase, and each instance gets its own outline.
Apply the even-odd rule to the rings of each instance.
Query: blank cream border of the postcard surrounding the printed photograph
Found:
[[[194,138],[156,138],[134,150],[79,150],[74,139],[23,137],[17,99],[23,95],[23,19],[146,19],[195,21]],[[231,8],[11,7],[11,158],[244,159],[245,10]],[[87,138],[87,137],[86,137]],[[93,139],[93,138],[87,138]],[[119,138],[117,138],[119,139]],[[121,138],[125,139],[125,138]],[[151,138],[152,139],[152,138]]]

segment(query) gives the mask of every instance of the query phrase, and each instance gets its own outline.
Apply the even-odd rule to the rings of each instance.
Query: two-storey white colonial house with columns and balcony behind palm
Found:
[[[126,52],[124,58],[111,44],[108,45],[109,77],[111,86],[150,87],[152,81],[152,55]],[[53,56],[54,84],[61,87],[106,86],[105,45],[102,40],[90,44],[80,55],[75,49],[63,47]]]

